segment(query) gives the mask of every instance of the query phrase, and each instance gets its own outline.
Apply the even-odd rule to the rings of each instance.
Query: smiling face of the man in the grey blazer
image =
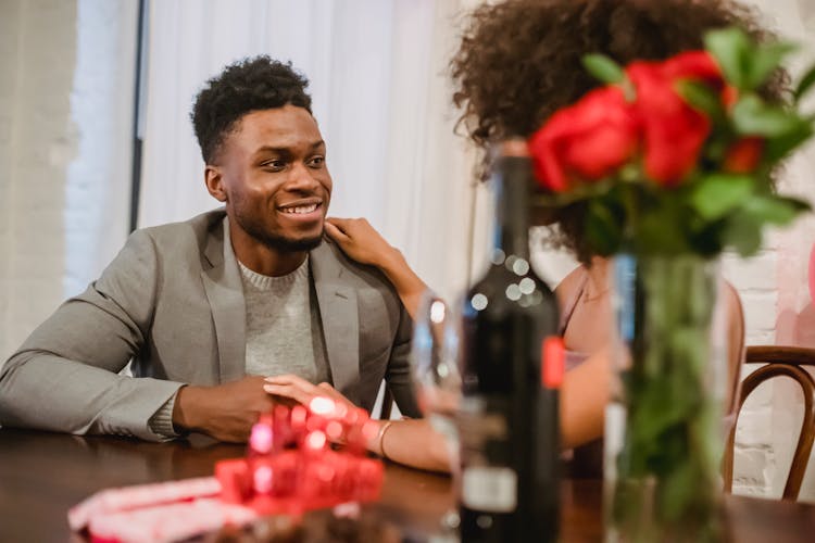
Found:
[[[287,104],[246,114],[208,166],[210,193],[233,228],[277,251],[319,244],[331,198],[325,142],[314,117]]]

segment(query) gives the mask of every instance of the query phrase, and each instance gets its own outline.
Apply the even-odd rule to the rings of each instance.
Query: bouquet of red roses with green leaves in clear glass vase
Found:
[[[539,204],[579,206],[588,252],[614,256],[617,379],[605,417],[609,541],[718,541],[730,324],[723,251],[742,256],[807,203],[777,194],[780,161],[813,135],[801,99],[765,92],[795,48],[739,28],[706,50],[625,67],[584,58],[606,86],[529,140]],[[719,295],[722,294],[722,296]]]

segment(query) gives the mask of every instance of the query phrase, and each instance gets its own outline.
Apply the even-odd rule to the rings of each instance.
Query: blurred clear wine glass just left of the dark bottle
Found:
[[[462,395],[459,363],[461,319],[457,312],[431,290],[419,300],[413,328],[413,367],[416,393],[422,413],[447,443],[453,488],[459,488],[459,431],[456,413]],[[440,538],[435,541],[457,541],[459,513],[447,512]]]

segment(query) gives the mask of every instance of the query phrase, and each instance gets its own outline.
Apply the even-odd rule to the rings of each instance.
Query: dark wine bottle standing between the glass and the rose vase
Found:
[[[502,147],[493,169],[492,264],[462,302],[463,542],[546,542],[557,534],[557,396],[542,384],[542,358],[554,351],[543,344],[557,333],[560,311],[529,263],[531,167],[526,147],[513,149]]]

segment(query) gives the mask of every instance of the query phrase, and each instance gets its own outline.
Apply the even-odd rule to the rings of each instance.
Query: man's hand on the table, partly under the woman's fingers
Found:
[[[183,387],[175,399],[173,425],[220,441],[246,443],[252,425],[275,405],[264,384],[262,376],[247,376],[217,387]]]

